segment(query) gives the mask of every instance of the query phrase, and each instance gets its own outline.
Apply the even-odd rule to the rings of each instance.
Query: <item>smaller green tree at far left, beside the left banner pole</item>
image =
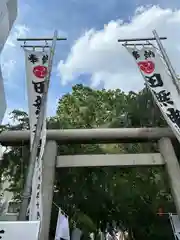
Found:
[[[5,130],[26,130],[29,129],[29,118],[26,112],[14,110],[10,116],[12,124],[1,126]],[[10,181],[9,191],[14,193],[14,197],[19,199],[25,182],[29,160],[29,145],[20,147],[9,147],[4,153],[4,160],[1,171],[4,180]]]

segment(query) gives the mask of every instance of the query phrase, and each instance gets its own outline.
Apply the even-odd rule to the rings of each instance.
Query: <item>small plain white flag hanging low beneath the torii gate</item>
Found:
[[[70,240],[69,220],[61,213],[61,209],[59,209],[57,219],[55,240],[60,240],[60,238]]]

